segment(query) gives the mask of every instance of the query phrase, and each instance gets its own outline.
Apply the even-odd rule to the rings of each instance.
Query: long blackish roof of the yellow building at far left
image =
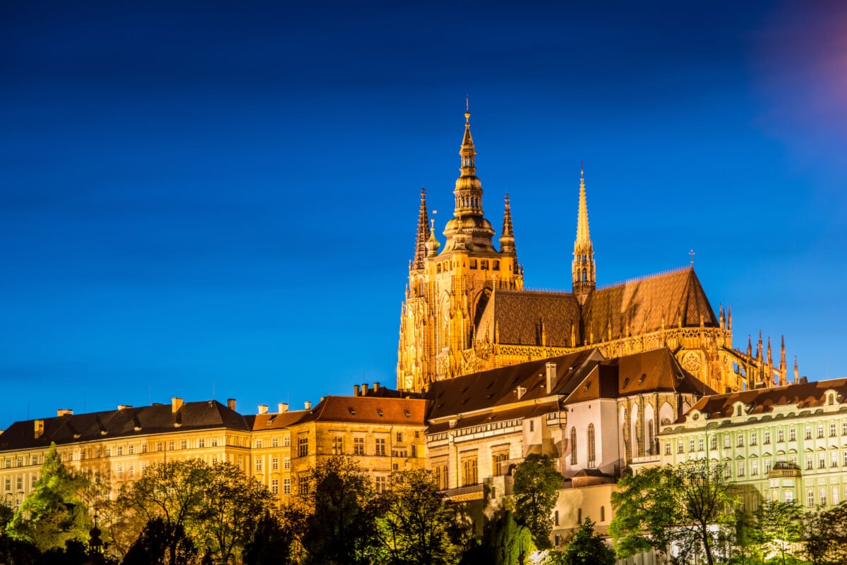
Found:
[[[244,416],[214,400],[183,403],[175,413],[171,404],[153,404],[141,408],[68,414],[42,421],[44,432],[38,438],[35,436],[36,420],[14,422],[0,435],[0,449],[40,448],[48,447],[52,442],[62,445],[186,430],[250,430]]]

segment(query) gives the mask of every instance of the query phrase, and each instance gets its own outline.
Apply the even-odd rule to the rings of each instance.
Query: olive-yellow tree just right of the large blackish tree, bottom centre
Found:
[[[432,474],[423,469],[391,476],[380,499],[378,520],[386,565],[446,565],[461,551],[454,543],[454,513],[445,504]]]

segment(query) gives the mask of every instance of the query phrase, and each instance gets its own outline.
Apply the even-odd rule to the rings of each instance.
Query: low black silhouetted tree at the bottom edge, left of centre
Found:
[[[126,552],[123,565],[194,565],[197,547],[180,524],[151,518]]]

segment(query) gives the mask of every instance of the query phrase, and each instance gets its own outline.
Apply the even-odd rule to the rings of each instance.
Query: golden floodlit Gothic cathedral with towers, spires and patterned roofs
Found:
[[[465,112],[453,217],[442,247],[421,190],[418,233],[402,304],[397,389],[423,392],[434,381],[596,348],[607,359],[669,348],[717,392],[787,383],[785,343],[774,363],[761,332],[754,352],[733,347],[732,310],[711,307],[693,262],[672,271],[597,288],[584,173],[568,291],[524,290],[509,196],[499,250],[483,213],[470,113]],[[794,381],[797,376],[794,359]]]

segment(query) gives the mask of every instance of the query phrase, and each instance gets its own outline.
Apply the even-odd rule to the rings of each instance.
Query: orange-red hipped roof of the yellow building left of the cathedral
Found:
[[[329,396],[300,421],[424,425],[427,403],[419,398]]]

